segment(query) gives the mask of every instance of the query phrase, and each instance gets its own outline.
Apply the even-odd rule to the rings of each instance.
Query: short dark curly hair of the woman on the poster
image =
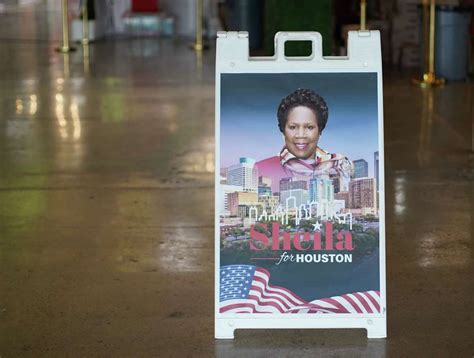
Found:
[[[324,99],[310,89],[297,89],[283,98],[278,106],[277,118],[280,132],[285,133],[285,125],[288,114],[295,107],[308,107],[313,110],[318,121],[319,133],[326,127],[328,121],[328,106]]]

